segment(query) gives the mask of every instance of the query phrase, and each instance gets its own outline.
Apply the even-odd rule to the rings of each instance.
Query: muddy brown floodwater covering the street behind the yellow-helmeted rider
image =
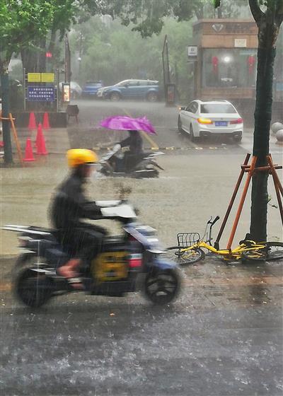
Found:
[[[223,219],[243,157],[243,153],[231,152],[219,156],[214,151],[205,154],[200,151],[168,151],[165,156],[158,158],[158,163],[165,169],[161,171],[159,178],[93,178],[88,186],[88,194],[90,199],[117,199],[122,187],[132,190],[126,198],[139,209],[139,221],[156,228],[165,245],[175,245],[175,235],[178,232],[197,231],[202,234],[210,216],[218,215]],[[3,224],[48,225],[50,198],[54,188],[67,174],[67,168],[64,156],[49,156],[44,161],[40,167],[32,165],[21,169],[21,172],[16,168],[6,169],[2,173],[5,184],[5,191],[1,194]],[[274,161],[279,163],[280,157],[275,156]],[[250,194],[238,225],[235,245],[248,232],[249,196]],[[269,240],[277,240],[282,235],[282,225],[278,209],[271,206],[277,204],[271,178],[270,197],[268,236]],[[237,207],[238,199],[221,239],[223,247],[226,247]],[[8,208],[11,210],[7,210]],[[107,221],[105,226],[110,233],[118,231],[113,222]],[[220,221],[214,226],[214,238],[219,227]],[[4,231],[1,231],[1,235],[2,252],[16,253],[16,237]]]

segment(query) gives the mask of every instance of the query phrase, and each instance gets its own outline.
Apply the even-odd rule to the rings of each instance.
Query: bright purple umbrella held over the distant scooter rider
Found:
[[[146,117],[132,118],[126,115],[114,115],[100,122],[101,127],[121,129],[124,131],[144,131],[146,134],[156,135],[154,126]]]

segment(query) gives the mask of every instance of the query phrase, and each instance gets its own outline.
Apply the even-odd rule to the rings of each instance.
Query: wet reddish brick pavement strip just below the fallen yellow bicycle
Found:
[[[12,300],[11,269],[13,259],[0,258],[1,277],[0,309],[9,309]],[[207,256],[205,260],[191,266],[183,266],[183,288],[178,298],[186,303],[187,310],[216,310],[282,306],[283,268],[282,262],[250,262],[226,265],[219,258]],[[81,294],[81,293],[80,293]],[[69,297],[71,300],[72,296]],[[77,295],[78,301],[85,298]],[[132,293],[127,299],[132,298]],[[140,296],[139,296],[140,298]],[[58,300],[59,301],[59,300]],[[68,301],[68,298],[67,298]],[[57,303],[57,300],[54,300]]]

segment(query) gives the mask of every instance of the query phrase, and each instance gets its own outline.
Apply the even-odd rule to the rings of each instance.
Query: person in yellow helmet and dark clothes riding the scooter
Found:
[[[51,220],[58,231],[59,242],[72,257],[57,269],[74,289],[83,289],[79,279],[79,266],[82,260],[98,253],[105,229],[91,226],[82,219],[101,219],[100,208],[90,202],[83,194],[83,185],[93,171],[93,164],[98,161],[96,153],[85,148],[67,151],[67,161],[71,172],[59,187],[51,207]]]

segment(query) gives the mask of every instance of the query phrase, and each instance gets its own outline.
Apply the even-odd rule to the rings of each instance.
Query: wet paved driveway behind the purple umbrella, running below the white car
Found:
[[[243,152],[251,151],[253,147],[252,129],[244,129],[241,144],[235,144],[231,139],[214,137],[207,141],[192,143],[187,134],[178,132],[178,107],[166,107],[164,103],[147,103],[140,101],[121,100],[77,100],[80,109],[79,125],[70,120],[69,136],[71,146],[112,147],[117,141],[127,136],[127,132],[110,131],[99,127],[99,122],[111,115],[129,115],[130,117],[146,117],[154,124],[157,136],[143,134],[144,147],[163,150],[189,151],[222,151]],[[282,153],[282,147],[277,146],[275,136],[270,136],[270,150],[272,153]]]

